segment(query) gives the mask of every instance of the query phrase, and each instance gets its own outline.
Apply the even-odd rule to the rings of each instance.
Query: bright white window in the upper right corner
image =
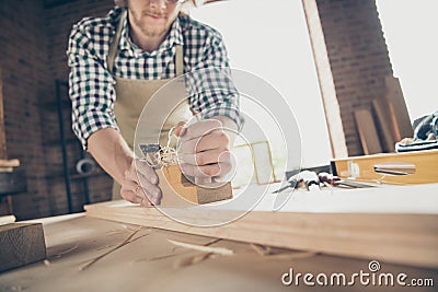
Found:
[[[438,1],[377,0],[411,120],[438,110]]]

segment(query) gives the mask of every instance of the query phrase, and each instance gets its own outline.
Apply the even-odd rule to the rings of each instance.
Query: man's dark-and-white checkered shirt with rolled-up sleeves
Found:
[[[219,77],[214,78],[203,75],[201,71],[193,74],[198,80],[188,82],[192,91],[193,85],[200,84],[210,90],[195,90],[197,93],[189,95],[192,109],[204,118],[227,116],[241,128],[243,119],[239,115],[239,94],[229,79],[227,50],[221,36],[188,15],[178,15],[164,42],[152,52],[143,51],[131,43],[126,20],[114,69],[110,72],[106,58],[123,10],[115,8],[102,19],[83,19],[73,25],[70,34],[67,55],[71,68],[72,129],[83,148],[87,149],[87,139],[96,130],[107,127],[118,130],[113,110],[116,100],[114,75],[140,80],[175,78],[175,45],[184,47],[184,72],[203,69],[221,71]],[[223,72],[228,72],[228,78],[223,78]]]

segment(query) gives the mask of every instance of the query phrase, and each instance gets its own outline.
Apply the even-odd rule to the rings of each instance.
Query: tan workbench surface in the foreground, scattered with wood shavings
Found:
[[[158,229],[138,227],[112,221],[71,214],[43,219],[47,260],[0,273],[0,291],[436,291],[438,270],[380,264],[380,272],[406,273],[411,279],[433,279],[434,287],[354,285],[309,287],[301,282],[285,285],[281,276],[289,272],[314,277],[325,273],[370,272],[372,259],[353,259],[299,250],[275,249],[276,256],[263,256],[247,243],[218,241]],[[85,266],[130,235],[130,243]],[[168,240],[226,247],[231,256],[210,256],[193,265],[187,259],[199,255],[176,247]],[[378,243],[377,243],[378,244]],[[198,257],[201,258],[201,257]],[[81,270],[81,268],[83,268]],[[287,280],[288,278],[286,278]],[[315,282],[315,278],[313,278]]]

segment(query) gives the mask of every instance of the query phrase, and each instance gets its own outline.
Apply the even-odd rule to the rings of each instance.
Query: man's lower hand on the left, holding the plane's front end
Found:
[[[130,202],[147,207],[160,205],[162,194],[158,183],[154,170],[146,161],[134,159],[124,173],[120,196]]]

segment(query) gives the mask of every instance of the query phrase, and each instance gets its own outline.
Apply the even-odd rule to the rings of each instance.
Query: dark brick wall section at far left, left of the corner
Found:
[[[47,43],[41,1],[0,1],[0,67],[9,159],[20,159],[27,192],[13,197],[20,219],[50,215],[41,126],[41,102],[49,94]]]

